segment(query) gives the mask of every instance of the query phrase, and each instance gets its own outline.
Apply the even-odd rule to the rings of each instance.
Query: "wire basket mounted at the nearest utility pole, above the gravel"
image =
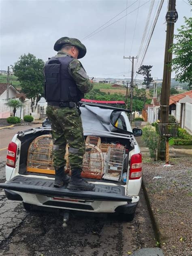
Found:
[[[178,126],[177,122],[158,123],[159,134],[164,137],[177,137]]]

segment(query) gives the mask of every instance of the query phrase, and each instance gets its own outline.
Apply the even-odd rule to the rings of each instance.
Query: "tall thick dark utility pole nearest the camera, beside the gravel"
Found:
[[[178,15],[175,9],[176,0],[169,0],[168,11],[166,13],[166,43],[164,53],[164,69],[163,69],[163,81],[161,90],[160,101],[160,123],[168,123],[169,121],[169,97],[170,97],[170,85],[171,85],[171,61],[172,53],[169,52],[171,45],[173,44],[174,23],[177,21]],[[161,139],[158,143],[158,160],[165,160],[165,155],[160,151]],[[169,164],[169,138],[166,138],[166,163]]]

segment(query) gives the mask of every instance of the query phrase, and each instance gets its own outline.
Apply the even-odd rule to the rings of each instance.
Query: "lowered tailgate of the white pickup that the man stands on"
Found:
[[[53,179],[28,177],[17,175],[6,183],[0,183],[0,188],[30,194],[49,196],[63,196],[74,199],[89,199],[96,201],[131,202],[132,198],[125,195],[125,188],[121,185],[96,184],[94,191],[69,190],[66,185],[54,188]]]

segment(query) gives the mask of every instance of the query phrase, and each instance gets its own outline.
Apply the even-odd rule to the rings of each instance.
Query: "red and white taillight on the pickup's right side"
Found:
[[[142,175],[141,153],[131,156],[129,179],[139,179]]]

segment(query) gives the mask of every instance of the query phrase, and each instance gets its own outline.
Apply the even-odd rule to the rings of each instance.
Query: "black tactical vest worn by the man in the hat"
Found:
[[[45,64],[45,99],[47,102],[79,102],[83,98],[68,67],[73,57],[52,57]]]

